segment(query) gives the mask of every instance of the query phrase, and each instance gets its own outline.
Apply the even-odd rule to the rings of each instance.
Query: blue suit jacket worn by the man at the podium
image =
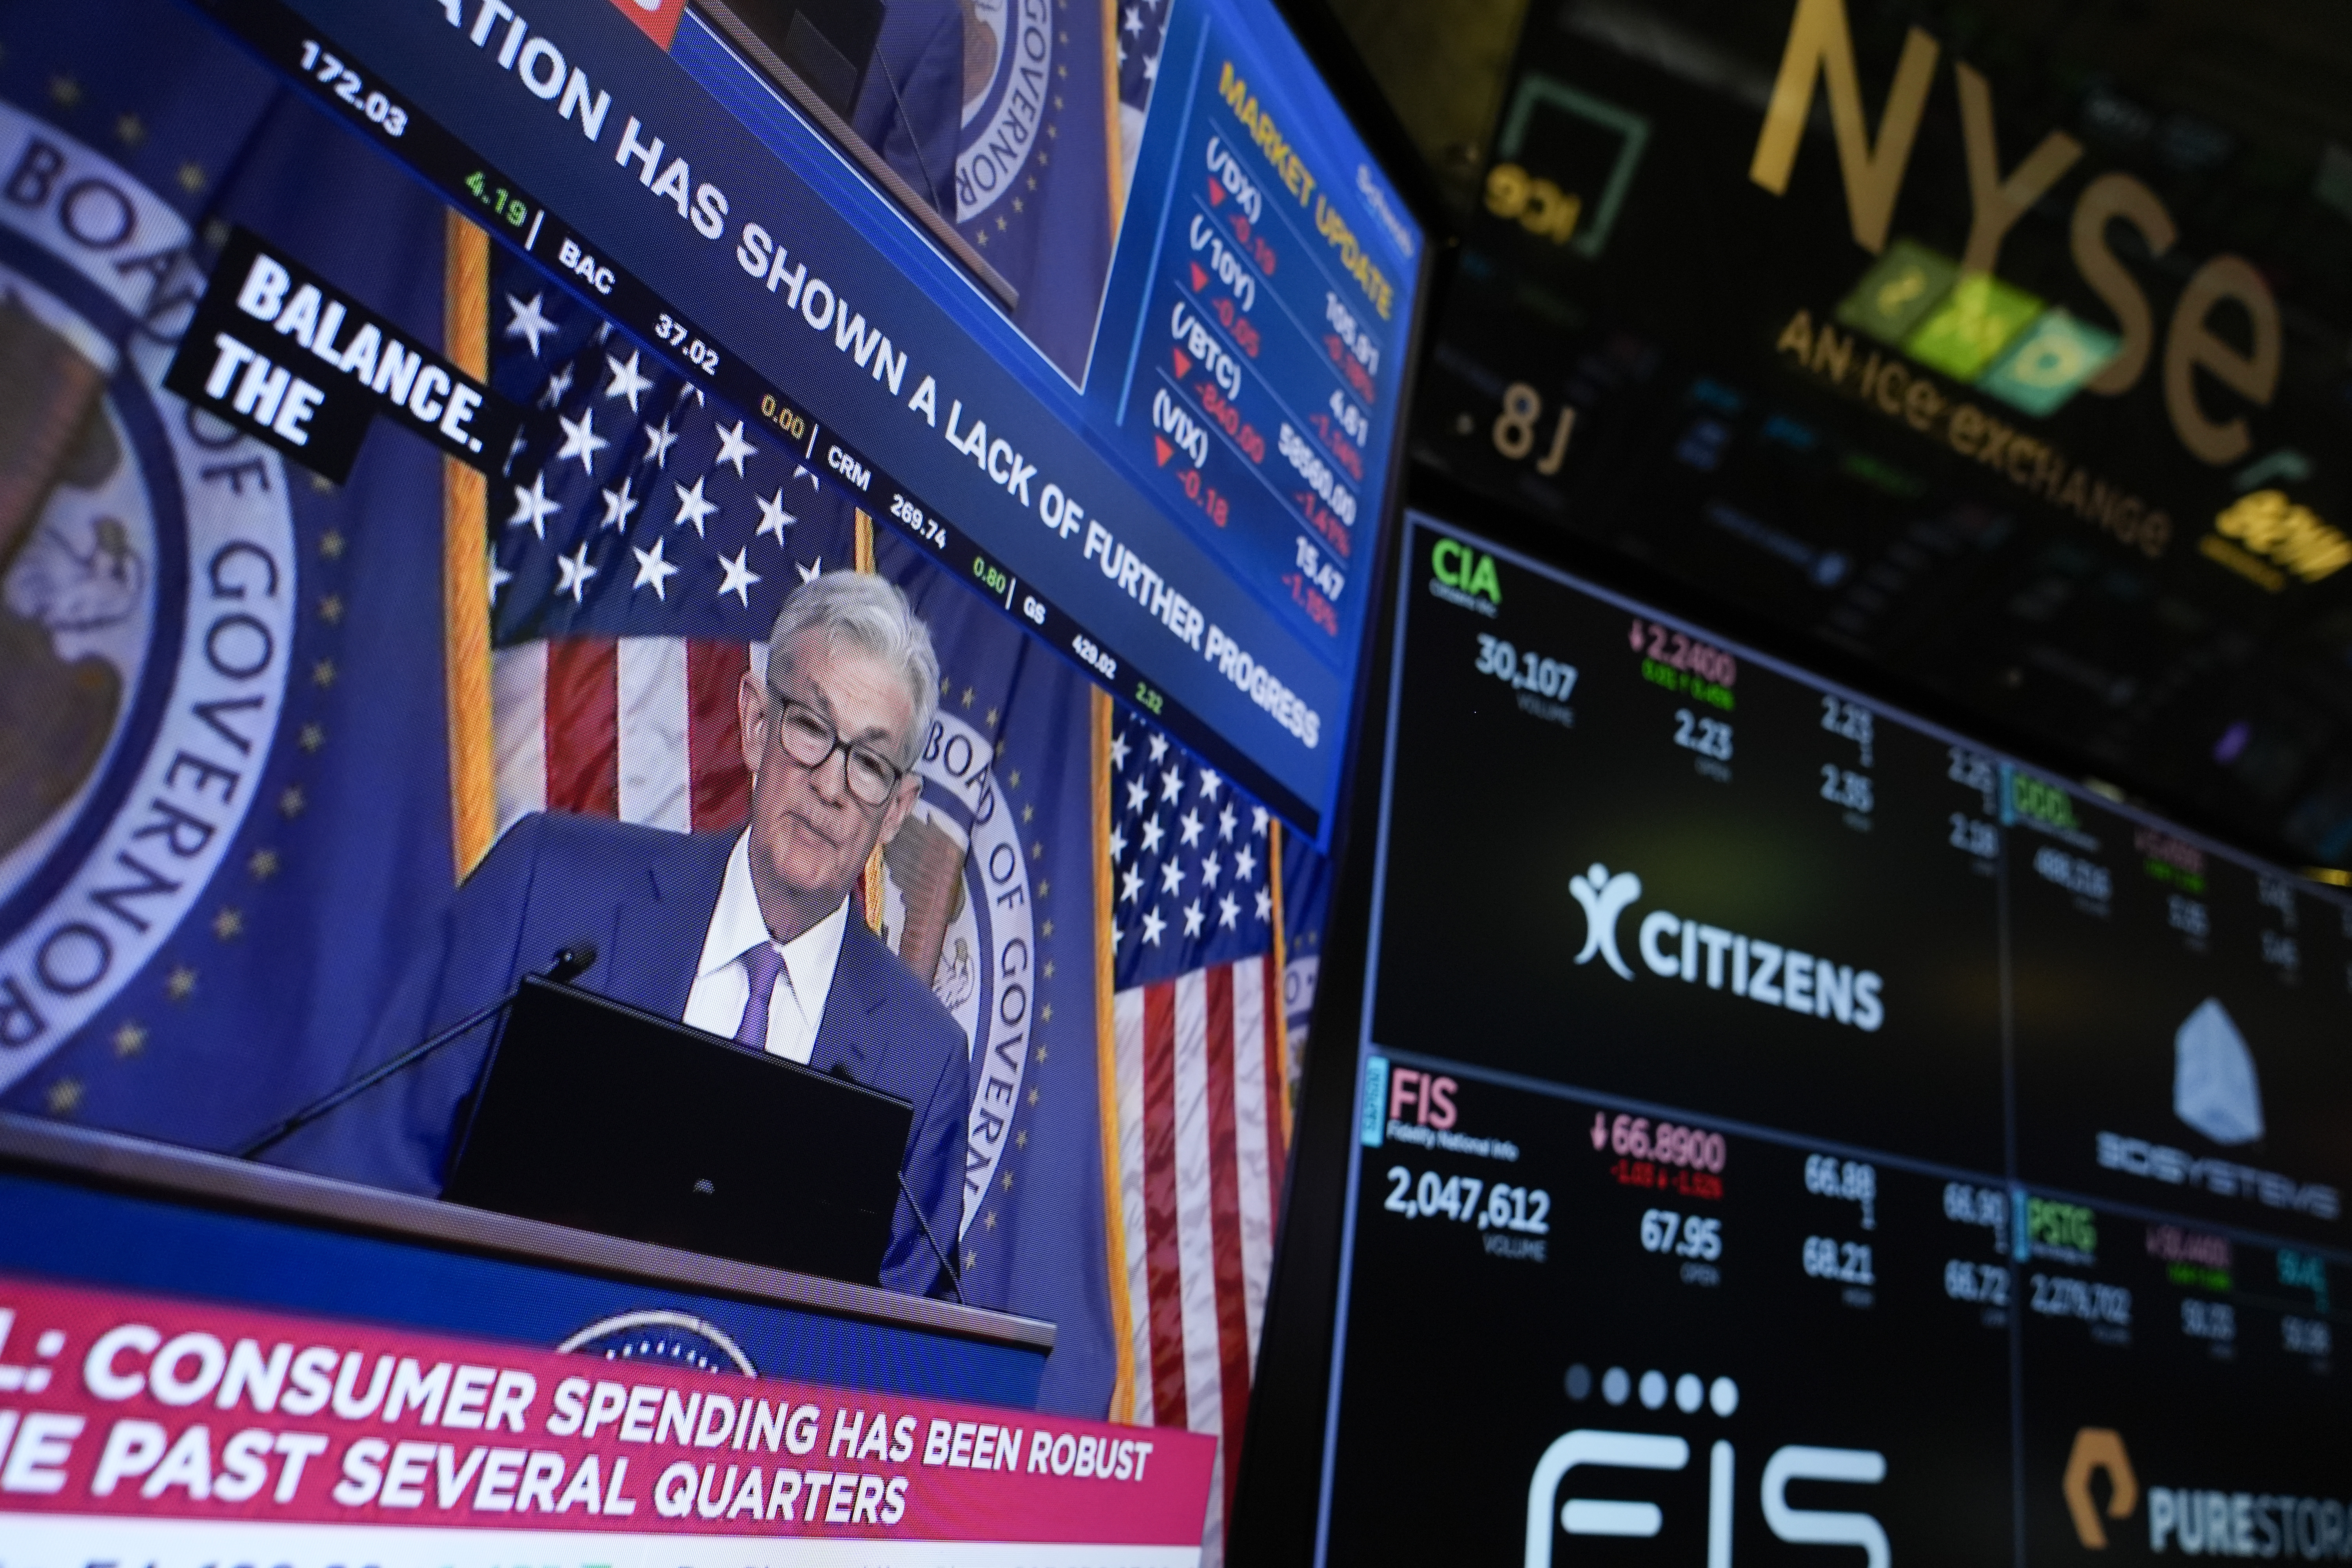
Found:
[[[416,954],[348,1077],[397,1056],[546,969],[557,947],[595,943],[576,980],[663,1018],[687,1011],[736,835],[680,835],[590,816],[515,823],[452,898],[440,940]],[[270,1159],[379,1187],[437,1194],[461,1100],[482,1072],[475,1030],[402,1077],[289,1138]],[[967,1112],[964,1034],[898,957],[851,919],[809,1065],[913,1103],[903,1173],[943,1248],[957,1241]],[[788,1204],[779,1194],[779,1204]],[[929,1293],[938,1262],[898,1199],[882,1284]]]

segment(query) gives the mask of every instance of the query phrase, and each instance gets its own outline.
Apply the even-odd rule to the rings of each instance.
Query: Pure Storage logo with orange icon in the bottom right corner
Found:
[[[2105,1507],[2091,1490],[2093,1476],[2107,1481]],[[2338,1497],[2150,1486],[2145,1502],[2152,1554],[2270,1556],[2303,1563],[2352,1559],[2352,1509]],[[2074,1537],[2091,1552],[2107,1549],[2110,1521],[2138,1512],[2140,1483],[2119,1432],[2084,1427],[2074,1434],[2065,1465],[2065,1507],[2074,1521]]]

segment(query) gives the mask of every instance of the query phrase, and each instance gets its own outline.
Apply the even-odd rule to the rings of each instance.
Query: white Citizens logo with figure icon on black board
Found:
[[[1621,980],[1632,980],[1632,966],[1618,950],[1618,926],[1642,898],[1642,877],[1611,872],[1595,860],[1588,870],[1569,877],[1569,893],[1585,912],[1585,945],[1576,961],[1602,959]],[[1886,1023],[1884,980],[1875,969],[1832,964],[1811,952],[1684,919],[1670,910],[1651,910],[1642,917],[1635,947],[1642,964],[1668,980],[1703,983],[1708,990],[1729,990],[1733,997],[1764,1006],[1835,1018],[1863,1032]]]

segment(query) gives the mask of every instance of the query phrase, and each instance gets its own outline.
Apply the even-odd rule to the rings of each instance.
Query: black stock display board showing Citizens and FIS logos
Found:
[[[1317,1561],[2352,1552],[2352,905],[1402,550]]]

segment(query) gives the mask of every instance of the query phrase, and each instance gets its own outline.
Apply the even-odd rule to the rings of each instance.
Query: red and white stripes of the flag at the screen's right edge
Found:
[[[1279,997],[1268,952],[1110,1009],[1134,1420],[1223,1436],[1228,1507],[1282,1199]]]

